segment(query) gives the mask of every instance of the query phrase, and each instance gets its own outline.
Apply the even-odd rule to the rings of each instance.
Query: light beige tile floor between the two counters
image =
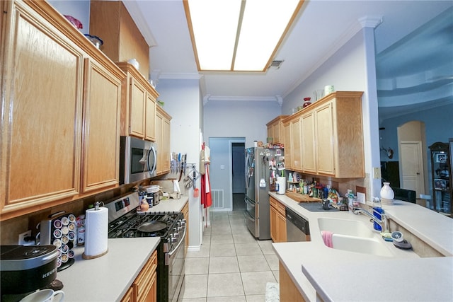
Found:
[[[265,301],[266,283],[278,281],[272,241],[251,236],[243,209],[210,215],[202,248],[185,259],[183,302]]]

